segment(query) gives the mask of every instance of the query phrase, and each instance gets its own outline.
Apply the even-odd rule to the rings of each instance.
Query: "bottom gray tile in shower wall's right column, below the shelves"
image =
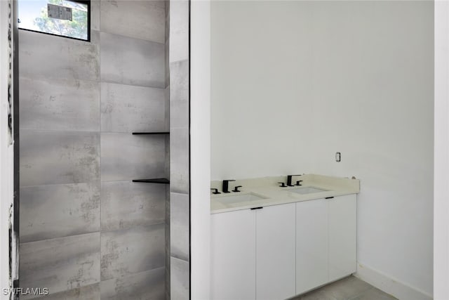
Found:
[[[165,268],[156,268],[100,283],[102,300],[164,300]]]

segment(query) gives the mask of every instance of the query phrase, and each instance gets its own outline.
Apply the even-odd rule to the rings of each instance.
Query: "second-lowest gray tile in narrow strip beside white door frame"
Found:
[[[189,261],[189,195],[170,193],[170,255]]]

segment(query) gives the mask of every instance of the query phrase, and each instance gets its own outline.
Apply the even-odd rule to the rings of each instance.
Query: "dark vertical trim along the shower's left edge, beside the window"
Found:
[[[19,286],[19,211],[20,211],[20,135],[19,135],[19,30],[18,30],[18,0],[13,0],[13,141],[14,141],[14,223],[13,235],[15,242],[13,250],[15,261],[13,261],[14,287]],[[14,296],[18,299],[18,296]],[[17,298],[16,298],[17,297]]]

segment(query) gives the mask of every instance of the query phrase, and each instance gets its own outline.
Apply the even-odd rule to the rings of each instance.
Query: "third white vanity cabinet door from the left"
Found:
[[[328,200],[296,203],[296,294],[328,282]]]

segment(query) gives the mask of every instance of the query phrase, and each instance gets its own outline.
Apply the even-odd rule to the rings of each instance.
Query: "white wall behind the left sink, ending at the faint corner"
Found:
[[[305,2],[213,1],[213,180],[311,171]]]

